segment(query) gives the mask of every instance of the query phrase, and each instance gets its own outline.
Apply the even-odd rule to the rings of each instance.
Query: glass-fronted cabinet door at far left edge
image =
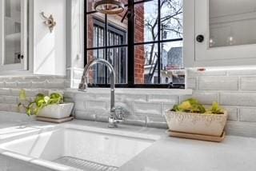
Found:
[[[26,0],[0,1],[0,71],[26,70]]]

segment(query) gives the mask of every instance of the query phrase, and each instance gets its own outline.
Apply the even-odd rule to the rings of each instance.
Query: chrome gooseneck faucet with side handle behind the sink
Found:
[[[107,62],[105,59],[98,58],[94,59],[92,62],[88,63],[85,67],[85,70],[83,71],[82,74],[82,79],[79,84],[78,90],[80,91],[86,91],[87,89],[87,75],[89,73],[89,69],[91,66],[94,66],[95,64],[104,64],[107,66],[107,68],[110,70],[110,116],[109,116],[109,128],[116,128],[118,127],[118,122],[123,121],[123,114],[122,114],[122,109],[118,108],[119,112],[117,112],[117,109],[115,108],[115,103],[114,103],[114,82],[115,82],[115,73],[114,73],[114,68],[110,64],[110,62]]]

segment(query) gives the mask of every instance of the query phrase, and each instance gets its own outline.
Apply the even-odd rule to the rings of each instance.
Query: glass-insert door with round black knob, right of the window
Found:
[[[255,9],[255,0],[195,0],[195,60],[255,60]]]

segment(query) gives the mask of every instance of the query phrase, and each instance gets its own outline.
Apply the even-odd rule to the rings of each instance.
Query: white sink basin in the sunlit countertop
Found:
[[[0,148],[78,169],[105,165],[116,170],[154,142],[150,138],[126,137],[125,132],[121,136],[101,130],[60,128],[10,141]]]

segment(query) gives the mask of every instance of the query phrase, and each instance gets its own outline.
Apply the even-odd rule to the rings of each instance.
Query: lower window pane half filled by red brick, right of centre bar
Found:
[[[158,82],[158,45],[148,44],[134,47],[135,84]]]

